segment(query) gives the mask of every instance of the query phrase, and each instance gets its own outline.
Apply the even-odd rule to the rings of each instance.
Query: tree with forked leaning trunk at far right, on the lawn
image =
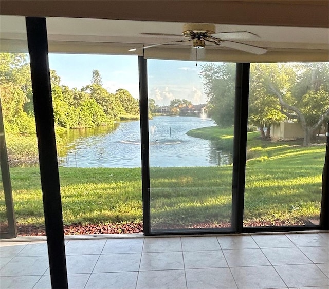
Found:
[[[258,71],[263,75],[259,83],[277,98],[280,112],[301,124],[308,146],[329,118],[329,63],[279,63]]]

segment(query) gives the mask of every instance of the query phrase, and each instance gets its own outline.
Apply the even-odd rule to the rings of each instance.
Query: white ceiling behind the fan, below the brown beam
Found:
[[[113,47],[121,45],[124,47],[124,54],[130,53],[126,51],[128,48],[185,39],[184,36],[150,36],[140,34],[145,32],[181,34],[183,25],[184,23],[179,22],[47,18],[49,43],[106,44],[106,46],[112,45]],[[259,38],[255,37],[253,40],[248,41],[241,40],[241,42],[264,47],[269,50],[266,54],[271,53],[271,51],[303,51],[307,53],[322,53],[323,55],[328,55],[329,58],[329,28],[227,24],[216,24],[215,27],[217,33],[249,31],[259,35]],[[0,44],[5,44],[8,40],[26,40],[24,17],[0,16]],[[190,42],[176,43],[164,45],[161,48],[189,47],[190,45]],[[211,49],[211,46],[214,45],[211,43],[206,44],[208,49]],[[227,48],[224,49],[217,46],[213,48],[227,50]],[[79,48],[77,51],[83,52],[82,50],[83,48]]]

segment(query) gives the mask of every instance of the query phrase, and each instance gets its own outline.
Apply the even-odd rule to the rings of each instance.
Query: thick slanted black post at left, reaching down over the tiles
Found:
[[[52,288],[68,288],[45,18],[26,17]]]

